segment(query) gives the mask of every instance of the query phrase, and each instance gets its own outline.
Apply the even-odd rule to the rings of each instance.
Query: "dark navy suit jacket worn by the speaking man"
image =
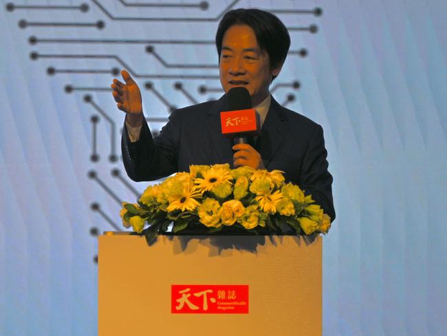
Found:
[[[153,138],[144,121],[140,138],[131,143],[124,125],[122,158],[134,181],[157,180],[189,165],[232,164],[232,143],[221,135],[220,112],[226,111],[226,96],[176,109]],[[261,136],[257,142],[264,166],[285,172],[293,182],[312,194],[331,220],[335,218],[332,176],[327,170],[323,128],[314,121],[282,107],[272,98]]]

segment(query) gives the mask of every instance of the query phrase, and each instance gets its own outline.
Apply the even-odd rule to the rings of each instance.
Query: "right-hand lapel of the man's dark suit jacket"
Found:
[[[283,112],[283,107],[272,97],[257,145],[266,168],[288,131],[287,116]]]

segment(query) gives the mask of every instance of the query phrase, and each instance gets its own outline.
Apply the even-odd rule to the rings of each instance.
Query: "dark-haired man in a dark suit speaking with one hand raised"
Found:
[[[153,138],[142,113],[138,85],[123,70],[125,83],[113,79],[113,98],[126,112],[122,156],[129,177],[156,180],[189,165],[228,162],[233,167],[280,169],[285,180],[312,194],[331,220],[335,218],[332,176],[320,125],[281,107],[270,95],[270,83],[279,75],[290,47],[285,25],[273,14],[255,9],[227,12],[216,34],[220,81],[225,92],[246,87],[260,115],[261,136],[256,148],[232,146],[221,135],[219,113],[226,111],[226,96],[218,101],[175,110]]]

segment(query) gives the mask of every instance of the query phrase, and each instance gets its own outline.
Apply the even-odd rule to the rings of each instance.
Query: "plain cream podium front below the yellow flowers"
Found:
[[[322,335],[322,256],[321,237],[100,235],[98,335]],[[248,287],[248,312],[171,313],[197,285]]]

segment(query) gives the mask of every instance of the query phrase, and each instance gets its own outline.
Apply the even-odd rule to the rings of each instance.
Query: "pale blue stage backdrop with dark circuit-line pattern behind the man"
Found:
[[[1,5],[1,335],[96,335],[97,234],[147,185],[122,167],[111,80],[133,75],[157,132],[221,96],[217,23],[253,6],[292,38],[273,96],[325,130],[324,334],[447,335],[446,1]]]

